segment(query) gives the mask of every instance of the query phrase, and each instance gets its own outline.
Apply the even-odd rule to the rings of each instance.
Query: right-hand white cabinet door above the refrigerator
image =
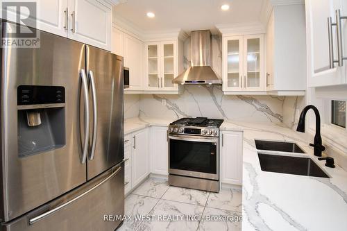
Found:
[[[112,8],[96,0],[69,0],[68,37],[111,50]]]

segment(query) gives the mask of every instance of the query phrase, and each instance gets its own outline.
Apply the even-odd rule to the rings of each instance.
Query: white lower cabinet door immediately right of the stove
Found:
[[[242,185],[243,132],[221,132],[221,182]]]

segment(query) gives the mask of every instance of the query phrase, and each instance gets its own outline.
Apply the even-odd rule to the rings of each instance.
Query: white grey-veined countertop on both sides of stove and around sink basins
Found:
[[[133,118],[125,134],[148,126],[168,126],[174,119]],[[317,160],[311,140],[281,124],[224,121],[221,130],[244,132],[242,230],[347,230],[347,172]],[[271,173],[260,169],[254,139],[296,142],[330,178]],[[274,152],[272,152],[274,153]],[[284,153],[276,153],[283,155]]]

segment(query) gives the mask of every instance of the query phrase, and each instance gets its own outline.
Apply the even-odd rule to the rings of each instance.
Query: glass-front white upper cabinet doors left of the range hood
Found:
[[[172,83],[178,76],[177,42],[146,43],[148,89],[154,91],[174,91],[178,86]]]

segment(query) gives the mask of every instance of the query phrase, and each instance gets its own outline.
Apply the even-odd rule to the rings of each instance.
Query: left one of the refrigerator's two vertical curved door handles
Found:
[[[82,150],[82,164],[87,160],[88,153],[88,142],[89,142],[89,126],[90,126],[90,112],[89,112],[89,96],[88,96],[88,84],[87,77],[85,76],[85,70],[81,69],[80,76],[82,79],[82,87],[83,87],[83,96],[85,98],[85,140],[83,142],[83,150]]]

